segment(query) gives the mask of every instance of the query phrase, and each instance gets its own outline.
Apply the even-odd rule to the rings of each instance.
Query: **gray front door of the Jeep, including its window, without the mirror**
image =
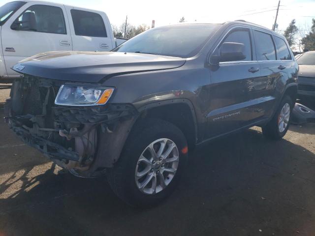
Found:
[[[213,55],[220,55],[220,47],[224,42],[244,44],[246,58],[239,61],[223,61],[210,66],[208,139],[237,130],[252,122],[253,101],[249,98],[246,83],[260,77],[259,63],[254,60],[251,29],[246,27],[230,29]]]

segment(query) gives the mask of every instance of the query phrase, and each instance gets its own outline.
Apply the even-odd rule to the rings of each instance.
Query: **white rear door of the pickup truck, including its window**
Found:
[[[73,51],[110,51],[115,39],[105,13],[65,6],[70,22]]]

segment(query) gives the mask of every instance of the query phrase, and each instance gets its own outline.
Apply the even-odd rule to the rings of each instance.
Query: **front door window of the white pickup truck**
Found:
[[[57,6],[32,5],[15,20],[11,29],[66,34],[63,10]]]

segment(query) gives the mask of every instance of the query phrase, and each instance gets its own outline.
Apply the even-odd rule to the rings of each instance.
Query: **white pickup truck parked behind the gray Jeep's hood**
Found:
[[[0,7],[0,83],[19,74],[18,61],[49,51],[110,51],[115,38],[104,12],[45,1],[12,1]]]

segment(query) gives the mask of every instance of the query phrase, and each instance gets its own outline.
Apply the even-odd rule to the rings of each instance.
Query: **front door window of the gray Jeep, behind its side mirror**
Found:
[[[222,43],[242,43],[245,46],[244,55],[246,56],[243,60],[252,60],[252,42],[249,29],[233,29],[229,34],[224,38]],[[217,48],[214,55],[220,56],[221,46]]]

